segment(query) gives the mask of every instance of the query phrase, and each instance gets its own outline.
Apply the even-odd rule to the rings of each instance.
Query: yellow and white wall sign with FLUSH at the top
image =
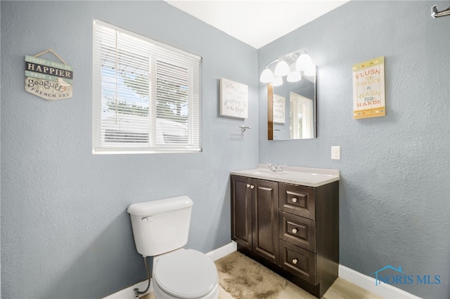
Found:
[[[353,118],[385,115],[385,58],[381,56],[353,66]]]

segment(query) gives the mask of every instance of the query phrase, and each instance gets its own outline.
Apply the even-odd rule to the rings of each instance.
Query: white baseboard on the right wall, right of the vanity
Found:
[[[342,265],[339,265],[339,277],[386,299],[420,299],[420,297],[391,286],[390,284],[378,284],[375,286],[375,279],[373,277],[361,274]]]

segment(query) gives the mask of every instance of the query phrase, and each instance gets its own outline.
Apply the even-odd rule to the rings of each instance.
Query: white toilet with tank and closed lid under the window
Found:
[[[131,204],[128,213],[136,250],[153,257],[153,293],[160,298],[218,298],[214,262],[185,249],[193,201],[187,196]]]

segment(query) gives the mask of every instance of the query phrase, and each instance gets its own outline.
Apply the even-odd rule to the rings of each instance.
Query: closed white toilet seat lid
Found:
[[[153,269],[155,283],[177,298],[200,298],[217,286],[217,268],[200,251],[186,249],[158,258]]]

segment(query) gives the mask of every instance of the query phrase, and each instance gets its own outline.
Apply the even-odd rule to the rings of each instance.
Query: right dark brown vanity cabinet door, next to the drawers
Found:
[[[253,246],[262,258],[278,261],[278,182],[252,180]]]

